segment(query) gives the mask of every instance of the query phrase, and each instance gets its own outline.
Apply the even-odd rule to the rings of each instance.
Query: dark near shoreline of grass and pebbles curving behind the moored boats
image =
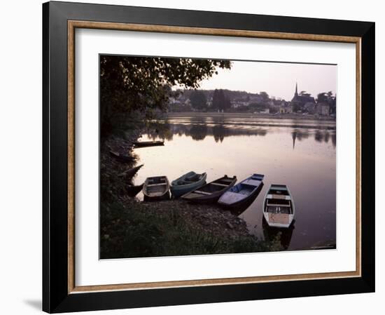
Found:
[[[109,150],[134,157],[132,145],[141,130],[130,130],[124,137],[111,135],[101,143],[102,259],[282,250],[279,239],[257,239],[243,219],[216,204],[197,205],[181,199],[142,202],[128,196],[129,181],[118,174],[137,162],[121,163]]]

